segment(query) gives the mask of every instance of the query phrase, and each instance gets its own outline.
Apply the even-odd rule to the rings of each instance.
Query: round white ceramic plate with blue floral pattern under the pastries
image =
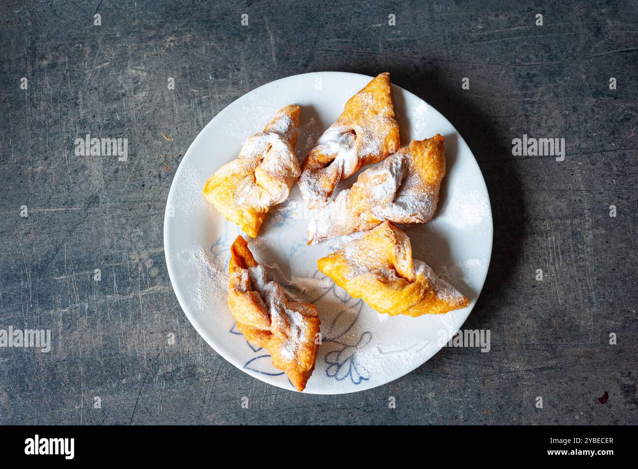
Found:
[[[372,79],[355,73],[320,72],[282,78],[244,94],[205,126],[175,173],[164,219],[168,274],[186,316],[219,355],[255,378],[293,390],[274,368],[267,350],[237,331],[226,304],[229,248],[242,234],[205,202],[205,181],[234,160],[242,143],[271,121],[279,108],[301,107],[295,152],[302,160],[323,131],[339,117],[348,98]],[[380,315],[317,270],[316,260],[343,239],[307,246],[309,217],[297,184],[274,207],[249,248],[271,278],[319,311],[322,345],[304,392],[362,391],[410,373],[461,328],[483,287],[492,250],[492,213],[483,176],[470,148],[452,124],[414,94],[392,86],[401,142],[445,137],[447,174],[438,210],[424,225],[405,228],[413,257],[423,260],[470,299],[470,306],[419,318]],[[366,167],[367,168],[367,167]],[[366,168],[363,168],[365,170]],[[351,186],[357,175],[342,181]]]

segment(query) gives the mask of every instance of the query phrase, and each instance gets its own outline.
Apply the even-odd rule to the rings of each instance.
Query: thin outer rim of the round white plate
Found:
[[[418,364],[417,366],[415,366],[414,368],[410,369],[409,371],[406,371],[405,373],[403,373],[403,375],[401,376],[396,376],[396,377],[392,377],[389,378],[388,380],[382,381],[382,382],[375,382],[375,385],[370,386],[370,387],[357,387],[355,389],[348,389],[345,391],[341,391],[341,390],[334,390],[332,388],[325,388],[327,392],[320,392],[321,390],[317,391],[297,391],[296,389],[294,389],[292,387],[292,389],[290,387],[284,387],[283,385],[280,385],[278,382],[274,382],[269,380],[270,376],[266,376],[266,375],[262,375],[260,373],[257,373],[255,371],[252,371],[251,369],[247,369],[244,368],[243,364],[239,361],[236,361],[234,359],[234,357],[232,357],[230,354],[226,353],[225,350],[223,350],[223,346],[219,346],[216,341],[213,338],[207,338],[208,334],[204,334],[202,332],[202,326],[200,326],[198,324],[198,320],[194,317],[194,314],[191,314],[188,312],[188,308],[185,308],[184,305],[188,304],[186,302],[186,298],[184,297],[184,294],[182,292],[178,292],[178,290],[174,287],[174,278],[177,278],[178,273],[175,271],[175,266],[173,263],[172,258],[168,255],[168,225],[170,223],[170,217],[168,216],[168,207],[169,204],[168,202],[174,197],[175,195],[175,179],[177,179],[177,176],[181,174],[182,171],[184,171],[184,168],[186,167],[186,165],[184,165],[184,161],[186,161],[186,159],[188,158],[189,152],[191,151],[191,149],[193,148],[193,146],[197,143],[197,141],[200,138],[204,138],[202,137],[202,135],[205,133],[205,130],[209,127],[209,126],[213,126],[213,124],[215,123],[215,121],[219,118],[222,119],[223,115],[226,114],[226,112],[229,112],[228,109],[230,107],[232,107],[237,101],[241,100],[242,98],[244,98],[244,96],[250,94],[250,93],[255,93],[256,91],[262,89],[265,86],[271,86],[274,85],[278,82],[281,82],[283,80],[289,80],[290,78],[295,78],[295,77],[302,77],[303,75],[353,75],[355,77],[363,77],[366,78],[367,80],[372,80],[375,77],[370,77],[369,75],[364,75],[362,73],[353,73],[353,72],[349,72],[349,71],[311,71],[311,72],[307,72],[307,73],[297,73],[295,75],[288,75],[287,77],[282,77],[282,78],[278,78],[277,80],[272,80],[271,82],[267,82],[261,86],[258,86],[256,88],[251,89],[250,91],[242,94],[241,96],[239,96],[238,98],[236,98],[235,100],[233,100],[231,103],[228,103],[228,105],[226,105],[225,108],[223,108],[221,111],[219,111],[216,115],[214,115],[214,117],[212,117],[212,119],[202,128],[202,130],[199,131],[199,133],[197,134],[197,136],[193,139],[193,142],[191,142],[191,144],[188,146],[188,149],[186,150],[186,152],[184,153],[184,156],[182,157],[182,160],[179,162],[179,167],[177,167],[177,170],[175,170],[175,174],[173,175],[173,179],[170,183],[170,189],[168,190],[168,196],[167,196],[167,200],[166,200],[166,207],[165,207],[165,212],[164,212],[164,225],[163,225],[163,245],[164,245],[164,257],[166,260],[166,265],[167,265],[167,271],[168,271],[168,278],[170,280],[170,286],[173,290],[173,292],[175,293],[175,297],[177,297],[177,302],[179,303],[180,308],[182,309],[182,312],[184,313],[184,315],[186,315],[186,318],[188,319],[188,321],[190,322],[190,324],[193,326],[193,328],[195,329],[195,331],[197,331],[197,333],[199,334],[200,338],[204,339],[204,341],[211,346],[212,350],[214,350],[218,355],[220,355],[223,359],[225,359],[227,362],[229,362],[230,364],[232,364],[233,366],[235,366],[235,368],[238,368],[240,371],[246,373],[249,376],[252,376],[253,378],[256,378],[264,383],[267,383],[269,385],[273,385],[276,387],[279,387],[281,389],[285,389],[286,391],[294,391],[294,392],[299,392],[300,394],[312,394],[312,395],[318,395],[318,396],[325,396],[325,395],[338,395],[338,394],[352,394],[354,392],[363,392],[363,391],[370,391],[371,389],[375,389],[376,387],[385,385],[387,383],[390,383],[392,381],[398,380],[399,378],[403,378],[403,376],[406,376],[410,373],[412,373],[412,371],[414,371],[415,369],[419,368],[420,366],[422,366],[423,364],[425,364],[427,361],[429,361],[432,357],[434,357],[434,355],[438,354],[441,351],[441,348],[443,348],[443,346],[438,346],[437,345],[437,349],[436,352],[434,352],[430,357],[428,357],[426,360],[424,360],[423,362],[421,362],[420,364]],[[390,72],[390,76],[392,75],[392,73]],[[474,310],[474,307],[476,306],[476,304],[479,302],[480,299],[480,294],[483,291],[483,287],[485,286],[485,282],[487,280],[487,274],[489,273],[489,266],[491,264],[491,260],[492,260],[492,251],[493,251],[493,244],[494,244],[494,218],[493,218],[493,212],[492,212],[492,205],[491,205],[491,200],[489,198],[489,191],[487,190],[487,184],[485,182],[485,177],[483,175],[483,172],[479,166],[479,162],[477,161],[476,157],[474,156],[473,151],[471,151],[470,149],[470,145],[467,144],[467,142],[465,142],[465,139],[463,138],[463,135],[461,135],[461,133],[457,130],[457,128],[449,121],[449,119],[447,119],[447,117],[445,117],[445,115],[443,115],[438,109],[436,109],[434,106],[432,106],[431,104],[429,104],[426,100],[420,98],[419,96],[417,96],[416,94],[412,93],[411,91],[408,91],[406,89],[404,89],[401,86],[398,86],[396,84],[392,84],[392,88],[393,88],[393,93],[394,93],[394,89],[400,89],[402,91],[402,93],[407,93],[412,95],[414,98],[416,98],[417,100],[421,101],[422,103],[425,103],[429,108],[432,108],[433,110],[436,110],[436,112],[438,112],[438,114],[441,115],[441,117],[443,117],[443,119],[445,119],[450,126],[452,126],[452,128],[454,128],[454,130],[457,133],[457,136],[461,139],[461,141],[463,142],[463,144],[465,144],[465,146],[468,148],[468,150],[470,151],[470,154],[472,156],[472,160],[474,162],[474,164],[476,165],[477,169],[479,170],[479,173],[481,175],[482,178],[482,183],[485,187],[486,190],[486,194],[487,194],[487,209],[489,210],[489,219],[491,222],[491,236],[490,236],[490,242],[489,242],[489,258],[487,259],[487,263],[486,263],[486,271],[485,271],[485,276],[482,278],[482,281],[480,282],[480,288],[477,291],[477,299],[475,301],[475,303],[473,305],[471,305],[471,309],[470,311],[468,311],[468,315],[466,316],[466,318],[463,320],[463,322],[459,325],[458,329],[456,331],[454,331],[454,334],[456,334],[457,331],[461,330],[461,327],[463,327],[463,324],[465,324],[465,322],[468,320],[468,318],[470,317],[472,311]]]

